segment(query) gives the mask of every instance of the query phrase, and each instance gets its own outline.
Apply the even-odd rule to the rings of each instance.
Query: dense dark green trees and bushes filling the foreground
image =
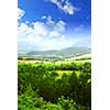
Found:
[[[18,64],[18,109],[91,110],[91,64]]]

